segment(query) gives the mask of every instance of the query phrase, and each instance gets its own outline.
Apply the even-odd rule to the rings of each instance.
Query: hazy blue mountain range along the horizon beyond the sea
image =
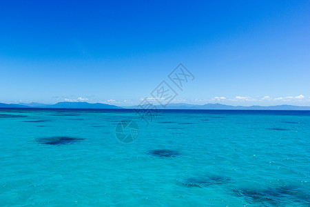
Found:
[[[229,106],[220,103],[208,103],[205,105],[194,105],[188,103],[171,103],[165,108],[156,106],[158,109],[192,109],[192,110],[310,110],[310,106]],[[55,104],[45,103],[0,103],[0,108],[139,108],[138,106],[114,106],[104,103],[87,102],[59,102]]]

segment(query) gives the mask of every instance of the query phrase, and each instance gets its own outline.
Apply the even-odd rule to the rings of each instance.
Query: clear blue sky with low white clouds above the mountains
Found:
[[[0,102],[310,106],[310,1],[0,1]]]

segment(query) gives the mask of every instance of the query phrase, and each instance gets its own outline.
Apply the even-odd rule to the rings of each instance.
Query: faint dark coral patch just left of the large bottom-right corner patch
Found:
[[[211,175],[207,177],[189,177],[182,182],[183,186],[203,188],[214,184],[225,184],[231,181],[229,177]]]

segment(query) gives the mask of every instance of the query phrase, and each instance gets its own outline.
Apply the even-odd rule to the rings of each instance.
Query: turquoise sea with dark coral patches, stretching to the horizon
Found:
[[[310,206],[309,182],[310,111],[0,109],[0,206]]]

